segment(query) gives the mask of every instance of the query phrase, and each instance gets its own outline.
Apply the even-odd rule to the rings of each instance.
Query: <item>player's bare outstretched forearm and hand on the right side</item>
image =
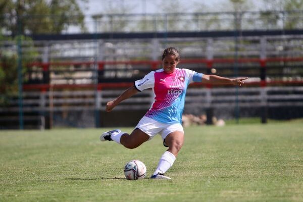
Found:
[[[244,84],[244,80],[246,80],[246,79],[248,79],[248,78],[240,77],[240,78],[230,79],[230,78],[221,77],[221,76],[217,76],[217,75],[204,74],[201,82],[207,83],[207,84],[233,84],[233,85],[241,86]]]

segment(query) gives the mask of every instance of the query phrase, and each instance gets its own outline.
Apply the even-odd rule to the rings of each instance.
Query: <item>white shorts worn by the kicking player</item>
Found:
[[[136,128],[139,128],[149,135],[149,140],[158,133],[162,136],[162,139],[165,139],[168,134],[174,131],[181,131],[184,134],[183,127],[180,123],[165,124],[145,116],[142,117]]]

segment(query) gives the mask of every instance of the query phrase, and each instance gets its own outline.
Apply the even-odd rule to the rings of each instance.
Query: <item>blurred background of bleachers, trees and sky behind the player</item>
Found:
[[[303,117],[303,0],[0,0],[0,129],[135,126],[151,90],[106,103],[161,68],[245,85],[191,84],[183,125]]]

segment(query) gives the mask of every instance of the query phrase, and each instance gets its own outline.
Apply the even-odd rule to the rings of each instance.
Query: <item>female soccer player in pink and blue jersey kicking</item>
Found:
[[[158,133],[163,138],[168,149],[160,158],[158,167],[151,178],[171,179],[164,173],[173,165],[184,142],[184,131],[181,125],[185,103],[185,93],[189,83],[201,82],[207,84],[233,84],[241,86],[247,78],[229,79],[216,75],[206,75],[188,69],[179,69],[179,52],[174,47],[168,47],[162,55],[162,69],[151,71],[141,80],[125,90],[120,96],[107,103],[106,111],[111,112],[122,100],[131,97],[147,88],[152,88],[155,94],[154,103],[139,121],[131,134],[112,130],[100,136],[101,141],[112,141],[126,148],[136,148],[150,140]]]

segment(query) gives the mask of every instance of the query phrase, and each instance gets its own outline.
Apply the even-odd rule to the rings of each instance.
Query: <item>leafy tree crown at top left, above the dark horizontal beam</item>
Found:
[[[76,0],[0,0],[0,11],[1,31],[13,35],[61,33],[70,25],[85,30],[84,15]]]

